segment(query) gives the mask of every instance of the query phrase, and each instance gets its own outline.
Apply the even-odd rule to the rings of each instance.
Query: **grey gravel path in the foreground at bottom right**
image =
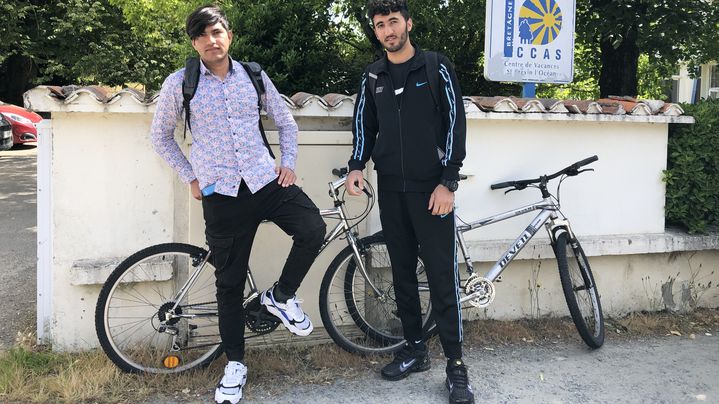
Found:
[[[699,335],[524,345],[465,354],[476,402],[719,402],[719,337]],[[444,361],[398,382],[376,372],[331,385],[291,385],[280,395],[253,392],[243,403],[446,403]],[[211,400],[211,397],[207,398]]]

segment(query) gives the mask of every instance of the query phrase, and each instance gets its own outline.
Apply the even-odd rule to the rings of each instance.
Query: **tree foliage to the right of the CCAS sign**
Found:
[[[637,95],[641,55],[664,77],[679,61],[719,59],[718,9],[713,0],[577,2],[577,43],[599,49],[600,95]]]

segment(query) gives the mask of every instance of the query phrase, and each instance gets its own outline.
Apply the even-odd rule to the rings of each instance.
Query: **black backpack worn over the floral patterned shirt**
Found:
[[[257,113],[259,114],[262,110],[262,96],[265,94],[265,83],[262,81],[262,67],[256,62],[240,62],[242,67],[245,68],[247,75],[250,76],[250,81],[257,91]],[[196,57],[187,58],[185,62],[185,76],[182,79],[182,109],[185,112],[185,130],[184,134],[187,134],[187,128],[192,131],[192,125],[190,124],[190,101],[197,92],[197,84],[200,81],[200,59]],[[275,154],[272,153],[270,143],[267,141],[265,135],[265,128],[262,126],[262,119],[258,120],[260,126],[260,133],[262,134],[262,140],[265,142],[267,151],[270,152],[270,156],[274,159]],[[183,135],[184,136],[184,135]]]

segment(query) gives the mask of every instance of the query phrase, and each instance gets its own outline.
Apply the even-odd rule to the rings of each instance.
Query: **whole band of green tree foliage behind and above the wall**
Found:
[[[0,99],[22,103],[34,84],[139,83],[157,90],[193,54],[186,16],[206,0],[0,2]],[[281,92],[354,93],[382,54],[365,0],[220,0],[235,59],[263,65]],[[486,0],[411,0],[412,41],[455,64],[466,95],[518,95],[483,77]],[[719,59],[719,1],[587,0],[577,3],[575,80],[538,95],[661,98],[664,78]],[[688,34],[688,27],[691,33]]]

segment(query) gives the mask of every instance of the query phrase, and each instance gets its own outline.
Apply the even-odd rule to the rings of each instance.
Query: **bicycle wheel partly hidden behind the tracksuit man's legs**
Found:
[[[327,268],[320,287],[320,315],[327,333],[344,350],[360,354],[394,352],[404,344],[402,324],[392,284],[392,266],[384,237],[375,234],[358,241],[369,280],[365,279],[350,246]],[[424,263],[417,263],[418,287],[425,335],[434,331]]]

